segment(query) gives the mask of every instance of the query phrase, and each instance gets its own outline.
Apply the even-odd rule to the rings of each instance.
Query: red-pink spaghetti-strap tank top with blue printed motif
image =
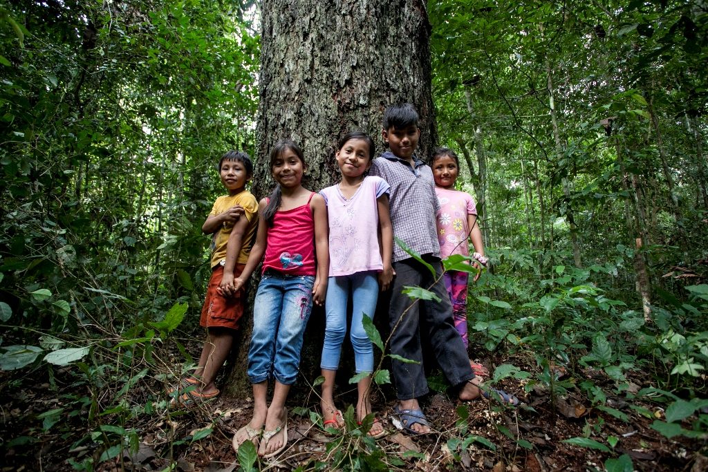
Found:
[[[268,228],[263,272],[271,269],[287,275],[316,275],[314,217],[309,207],[314,192],[301,207],[275,212]]]

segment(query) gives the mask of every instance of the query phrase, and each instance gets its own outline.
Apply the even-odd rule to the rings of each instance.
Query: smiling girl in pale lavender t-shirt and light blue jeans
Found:
[[[347,301],[353,297],[350,338],[358,374],[374,369],[374,351],[362,323],[373,318],[378,292],[386,290],[393,277],[391,258],[393,231],[389,215],[389,184],[380,177],[364,176],[375,153],[372,139],[362,132],[346,134],[338,143],[337,165],[342,180],[321,190],[329,215],[329,283],[326,296],[326,330],[320,367],[324,426],[344,426],[340,410],[334,406],[334,378],[339,367],[346,334]],[[378,238],[372,235],[378,234]],[[371,376],[358,381],[357,419],[371,413]],[[369,419],[370,420],[370,419]],[[382,437],[385,432],[374,419],[367,434]]]

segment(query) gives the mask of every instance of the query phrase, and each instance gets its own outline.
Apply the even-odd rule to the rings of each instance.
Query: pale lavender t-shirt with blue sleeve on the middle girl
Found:
[[[329,215],[329,276],[383,270],[379,250],[377,198],[389,192],[386,180],[369,175],[350,199],[339,185],[320,190]]]

